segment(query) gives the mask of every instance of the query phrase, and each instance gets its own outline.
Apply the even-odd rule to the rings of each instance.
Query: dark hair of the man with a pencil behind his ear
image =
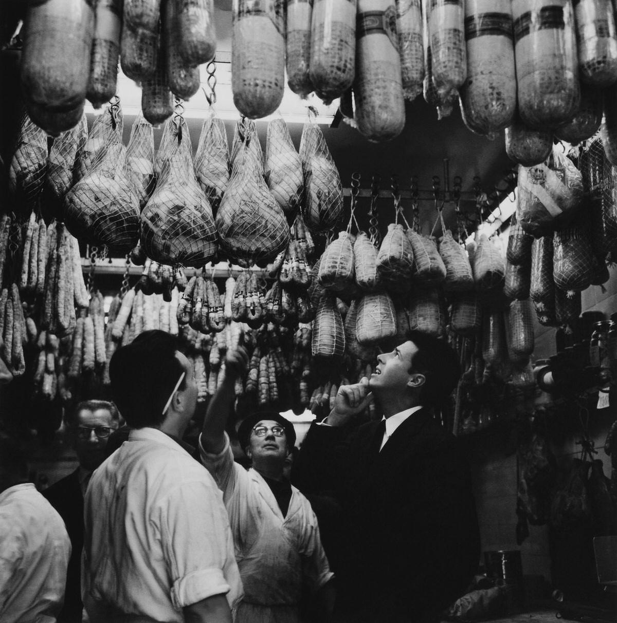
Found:
[[[109,363],[111,393],[130,427],[158,426],[165,419],[165,403],[184,372],[177,351],[176,338],[159,330],[144,331],[115,351]]]

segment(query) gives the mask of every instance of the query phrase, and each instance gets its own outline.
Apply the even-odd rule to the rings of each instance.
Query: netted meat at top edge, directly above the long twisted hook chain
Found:
[[[178,52],[185,65],[197,67],[214,58],[216,34],[212,0],[178,2]]]

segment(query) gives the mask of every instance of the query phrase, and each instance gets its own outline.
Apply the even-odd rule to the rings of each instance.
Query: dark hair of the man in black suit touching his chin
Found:
[[[459,382],[459,357],[445,340],[419,331],[410,331],[407,338],[418,349],[409,372],[424,374],[426,379],[419,399],[425,406],[435,406],[447,399]]]

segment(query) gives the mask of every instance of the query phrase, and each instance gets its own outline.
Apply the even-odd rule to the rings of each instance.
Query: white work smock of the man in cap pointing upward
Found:
[[[283,517],[268,483],[253,468],[233,460],[229,437],[220,454],[206,452],[203,464],[223,490],[245,597],[236,623],[299,621],[303,589],[316,591],[333,577],[309,501],[291,487]]]

